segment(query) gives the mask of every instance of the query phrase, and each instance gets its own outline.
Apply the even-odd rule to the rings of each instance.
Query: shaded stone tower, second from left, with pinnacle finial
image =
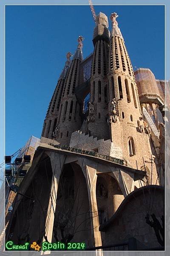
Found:
[[[82,41],[83,37],[79,36],[79,44],[65,79],[61,104],[59,106],[57,135],[55,138],[61,144],[66,145],[70,142],[71,133],[78,130],[81,126],[80,106],[75,95],[75,88],[78,85],[80,62],[83,60]]]

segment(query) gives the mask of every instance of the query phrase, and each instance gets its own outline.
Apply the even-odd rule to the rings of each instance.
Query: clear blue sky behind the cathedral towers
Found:
[[[133,67],[150,68],[164,79],[164,6],[95,6],[117,21]],[[111,22],[109,21],[111,29]],[[94,20],[89,6],[6,6],[6,155],[31,135],[41,136],[43,120],[68,51],[77,38],[83,55],[93,52]]]

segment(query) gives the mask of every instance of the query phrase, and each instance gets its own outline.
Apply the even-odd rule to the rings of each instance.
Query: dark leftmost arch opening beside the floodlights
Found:
[[[10,240],[15,244],[24,244],[26,241],[37,241],[38,244],[42,242],[48,217],[52,177],[51,160],[44,153],[37,163],[37,170],[24,193],[25,196],[20,197],[20,204],[14,211],[9,236],[13,233]],[[18,200],[18,195],[15,200]]]

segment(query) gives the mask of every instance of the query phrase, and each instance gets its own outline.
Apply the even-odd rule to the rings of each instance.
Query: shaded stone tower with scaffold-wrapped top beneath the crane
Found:
[[[94,55],[91,70],[88,132],[97,139],[109,139],[108,115],[108,17],[100,12],[94,28]]]

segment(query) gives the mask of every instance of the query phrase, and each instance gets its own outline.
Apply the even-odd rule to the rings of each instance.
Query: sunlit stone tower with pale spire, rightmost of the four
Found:
[[[151,169],[150,131],[144,127],[133,67],[116,17],[116,13],[110,17],[112,31],[108,61],[111,141],[122,148],[123,157],[130,166],[141,169],[144,157]]]

